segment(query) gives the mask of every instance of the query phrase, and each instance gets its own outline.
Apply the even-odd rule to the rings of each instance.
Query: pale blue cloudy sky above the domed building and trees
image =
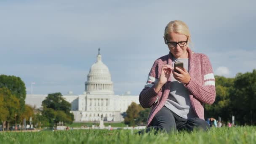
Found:
[[[27,93],[82,94],[98,48],[114,91],[139,95],[153,62],[169,50],[163,32],[184,21],[192,51],[214,75],[256,69],[255,0],[1,0],[0,75],[24,81]],[[35,82],[35,85],[31,83]]]

